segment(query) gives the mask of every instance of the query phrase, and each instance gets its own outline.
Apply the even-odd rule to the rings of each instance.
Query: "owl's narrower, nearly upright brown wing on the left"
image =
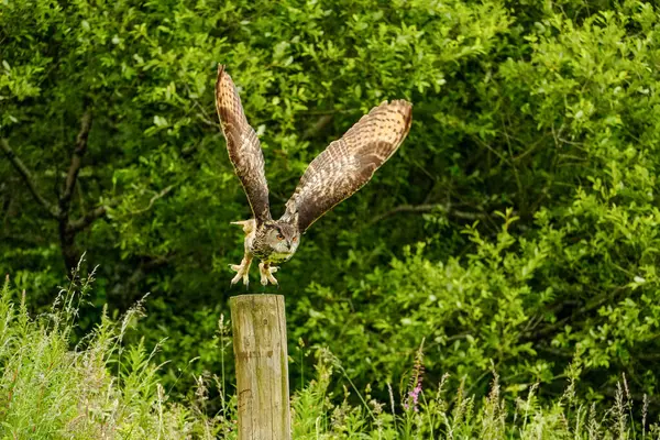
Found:
[[[216,109],[227,140],[229,158],[241,179],[254,218],[257,224],[271,220],[264,154],[256,133],[248,123],[239,92],[222,65],[218,66]]]

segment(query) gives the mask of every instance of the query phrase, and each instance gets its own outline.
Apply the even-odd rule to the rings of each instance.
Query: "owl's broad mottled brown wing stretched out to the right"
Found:
[[[286,204],[285,217],[297,215],[298,229],[305,232],[372,178],[402,144],[411,120],[413,105],[405,100],[373,108],[309,164]]]

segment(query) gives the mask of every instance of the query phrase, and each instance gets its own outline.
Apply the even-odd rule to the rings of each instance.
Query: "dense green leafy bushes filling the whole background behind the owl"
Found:
[[[275,211],[370,107],[415,103],[397,155],[282,268],[290,346],[329,346],[380,397],[422,338],[428,377],[465,377],[479,395],[491,363],[512,398],[537,382],[561,395],[571,363],[584,396],[614,396],[623,373],[656,394],[651,2],[2,8],[0,268],[48,293],[87,251],[100,268],[84,328],[106,301],[116,316],[151,292],[138,334],[148,349],[168,337],[168,384],[185,389],[178,369],[196,356],[193,372],[220,369],[209,341],[241,292],[228,286],[242,254],[228,222],[249,207],[213,116],[221,62],[260,133]],[[299,377],[311,361],[294,358]]]

